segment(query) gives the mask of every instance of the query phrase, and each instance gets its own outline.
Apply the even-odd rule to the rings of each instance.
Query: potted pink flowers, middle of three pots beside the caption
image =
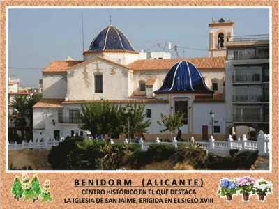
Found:
[[[243,201],[248,201],[249,195],[255,194],[255,189],[253,187],[255,182],[255,179],[250,178],[250,176],[245,176],[236,180],[236,185],[238,187],[239,193],[243,194]]]

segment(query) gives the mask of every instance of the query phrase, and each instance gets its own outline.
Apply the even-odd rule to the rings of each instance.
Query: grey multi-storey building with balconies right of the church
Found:
[[[269,133],[269,35],[229,40],[225,75],[227,132],[248,139]]]

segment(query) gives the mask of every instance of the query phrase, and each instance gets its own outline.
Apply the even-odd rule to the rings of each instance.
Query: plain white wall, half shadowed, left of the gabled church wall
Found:
[[[43,98],[65,98],[67,93],[67,75],[43,75]]]

